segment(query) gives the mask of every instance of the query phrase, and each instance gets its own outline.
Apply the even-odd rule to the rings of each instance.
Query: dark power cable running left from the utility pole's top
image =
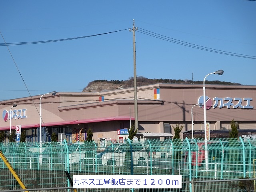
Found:
[[[66,39],[56,39],[56,40],[46,40],[46,41],[33,41],[33,42],[18,42],[18,43],[0,43],[0,46],[29,45],[29,44],[39,44],[39,43],[50,43],[50,42],[67,41],[67,40],[74,40],[74,39],[81,39],[81,38],[105,35],[105,34],[120,32],[120,31],[124,31],[124,30],[128,30],[128,29],[122,29],[122,30],[118,30],[118,31],[112,31],[112,32],[95,34],[95,35],[88,35],[88,36],[82,36],[82,37],[66,38]]]

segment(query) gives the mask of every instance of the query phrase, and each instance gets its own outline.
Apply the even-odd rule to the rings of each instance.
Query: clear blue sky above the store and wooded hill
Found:
[[[256,1],[247,0],[1,1],[0,44],[122,31],[8,46],[10,52],[0,46],[0,100],[54,90],[81,92],[93,80],[133,77],[133,37],[128,30],[133,19],[138,27],[137,76],[192,80],[193,73],[196,81],[222,69],[222,76],[207,80],[256,85],[255,10]],[[183,46],[143,31],[253,59]]]

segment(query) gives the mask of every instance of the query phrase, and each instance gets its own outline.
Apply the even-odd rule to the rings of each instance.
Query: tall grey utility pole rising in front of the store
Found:
[[[138,124],[138,101],[137,101],[137,74],[136,74],[136,48],[135,48],[135,31],[138,30],[138,27],[135,27],[134,20],[132,29],[133,36],[133,72],[134,72],[134,112],[135,112],[135,130],[139,127]]]

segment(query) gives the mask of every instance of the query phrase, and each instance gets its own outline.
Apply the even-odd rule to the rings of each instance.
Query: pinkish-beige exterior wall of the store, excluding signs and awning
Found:
[[[154,89],[160,89],[160,99],[154,100]],[[99,97],[104,96],[100,102]],[[191,130],[191,108],[203,96],[203,86],[194,84],[154,84],[138,87],[138,120],[140,132],[164,132],[164,123],[172,126],[184,125],[182,132]],[[218,98],[242,98],[242,105],[246,106],[244,98],[252,98],[250,106],[253,109],[216,107],[206,110],[206,120],[210,122],[211,130],[221,128],[230,129],[230,121],[234,119],[240,124],[240,129],[256,129],[256,86],[226,86],[206,85],[206,96],[213,101]],[[27,118],[12,119],[12,126],[17,124],[39,125],[39,99],[17,98],[0,102],[0,111],[26,109]],[[214,105],[214,101],[213,104]],[[234,102],[236,104],[236,101]],[[120,117],[130,115],[134,118],[134,89],[126,88],[101,93],[72,93],[60,92],[55,96],[45,95],[41,100],[42,126],[43,123],[90,120],[95,118]],[[194,130],[204,130],[204,110],[199,106],[193,108]],[[0,130],[9,130],[10,121],[0,121]],[[65,126],[65,125],[62,125]],[[128,128],[129,120],[92,122],[68,125],[74,128],[89,128],[94,130],[94,139],[102,136],[118,140],[117,130]],[[125,138],[125,136],[122,136]],[[127,136],[128,137],[128,136]]]

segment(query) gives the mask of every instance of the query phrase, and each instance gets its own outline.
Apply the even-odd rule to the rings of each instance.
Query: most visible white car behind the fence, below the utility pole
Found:
[[[105,152],[101,156],[102,165],[124,165],[124,161],[130,164],[130,152],[129,144],[119,144],[113,152]],[[146,160],[148,160],[148,153],[144,143],[133,143],[132,144],[132,159],[133,164],[138,166],[146,166]]]

